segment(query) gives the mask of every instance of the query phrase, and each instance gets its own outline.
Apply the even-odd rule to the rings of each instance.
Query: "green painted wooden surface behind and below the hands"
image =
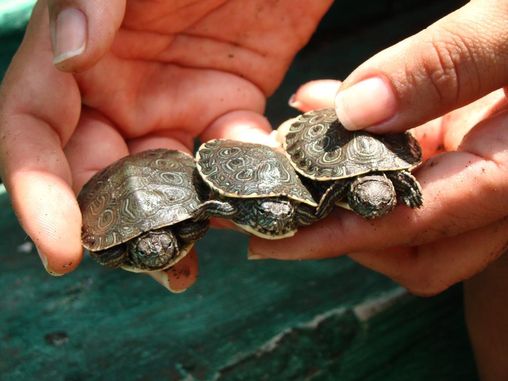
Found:
[[[269,100],[270,120],[294,115],[285,102],[299,83],[343,78],[447,12],[437,2],[372,4],[334,5]],[[0,34],[0,70],[16,28]],[[417,298],[347,258],[247,261],[246,236],[216,230],[196,245],[200,275],[182,294],[89,257],[54,278],[2,189],[0,237],[1,380],[478,379],[460,285]]]

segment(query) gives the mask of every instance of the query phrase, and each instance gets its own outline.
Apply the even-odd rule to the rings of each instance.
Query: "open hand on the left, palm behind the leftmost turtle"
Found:
[[[98,170],[196,137],[265,141],[266,97],[330,5],[40,0],[0,88],[0,172],[48,272],[82,258],[76,194]],[[151,275],[183,290],[195,253],[178,268]]]

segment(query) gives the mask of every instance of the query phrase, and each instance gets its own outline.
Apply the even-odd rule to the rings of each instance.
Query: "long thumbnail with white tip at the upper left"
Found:
[[[55,65],[83,53],[86,46],[86,29],[87,21],[83,12],[75,8],[60,11],[51,34]]]

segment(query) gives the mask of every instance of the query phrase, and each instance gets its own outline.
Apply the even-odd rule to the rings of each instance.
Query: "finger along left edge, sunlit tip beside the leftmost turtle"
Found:
[[[0,88],[0,170],[20,224],[46,270],[82,257],[81,214],[62,146],[79,118],[79,89],[52,65],[48,14],[39,2]]]

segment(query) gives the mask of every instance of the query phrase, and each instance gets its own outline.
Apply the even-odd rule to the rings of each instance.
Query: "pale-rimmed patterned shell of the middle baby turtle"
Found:
[[[221,196],[285,196],[317,206],[283,153],[263,144],[215,139],[201,145],[197,167]]]

